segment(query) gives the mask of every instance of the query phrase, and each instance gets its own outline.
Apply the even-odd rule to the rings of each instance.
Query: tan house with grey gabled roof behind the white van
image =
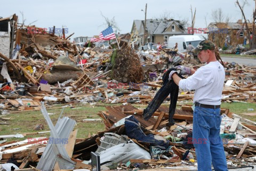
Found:
[[[131,39],[139,39],[142,42],[144,35],[144,20],[133,20]],[[146,21],[146,42],[167,42],[170,36],[188,35],[188,32],[180,25],[178,20],[153,20]]]

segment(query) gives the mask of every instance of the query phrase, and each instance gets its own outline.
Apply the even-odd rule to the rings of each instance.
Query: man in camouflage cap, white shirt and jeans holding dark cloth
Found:
[[[195,110],[193,113],[193,143],[196,149],[198,171],[215,170],[227,171],[227,160],[220,138],[220,104],[225,70],[215,56],[215,45],[210,40],[203,40],[193,50],[205,66],[190,69],[177,66],[181,74],[191,75],[187,79],[181,79],[177,71],[171,71],[169,79],[181,89],[195,89]]]

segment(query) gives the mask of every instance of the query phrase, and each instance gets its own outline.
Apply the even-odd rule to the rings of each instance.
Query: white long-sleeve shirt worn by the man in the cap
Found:
[[[183,90],[195,89],[193,103],[220,105],[225,70],[218,61],[200,67],[187,79],[181,79],[179,87]]]

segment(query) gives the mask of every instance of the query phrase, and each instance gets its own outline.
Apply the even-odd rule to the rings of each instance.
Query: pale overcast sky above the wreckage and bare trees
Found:
[[[212,22],[212,10],[221,8],[225,15],[231,17],[231,22],[236,22],[241,19],[241,11],[235,5],[234,0],[93,0],[93,1],[27,1],[27,0],[8,0],[0,1],[0,17],[10,17],[12,14],[19,16],[19,23],[22,22],[22,15],[26,19],[25,24],[37,20],[33,25],[42,28],[49,28],[55,26],[68,28],[68,35],[75,32],[72,36],[93,36],[106,29],[102,26],[105,23],[101,16],[102,12],[105,17],[111,19],[115,17],[118,27],[121,29],[120,33],[124,34],[131,31],[133,20],[144,20],[147,3],[147,19],[157,18],[163,15],[164,12],[171,13],[173,19],[188,19],[191,23],[190,4],[193,10],[196,7],[196,22],[195,27],[205,27],[205,16],[207,25]],[[242,2],[239,0],[239,2]],[[244,12],[247,19],[252,18],[252,11],[254,8],[254,1],[247,0],[249,3],[244,7]]]

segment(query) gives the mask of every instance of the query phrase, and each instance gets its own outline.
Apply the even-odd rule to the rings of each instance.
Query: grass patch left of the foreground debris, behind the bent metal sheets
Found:
[[[109,105],[109,104],[107,104]],[[80,109],[76,109],[80,108]],[[99,111],[106,110],[105,106],[98,105],[93,107],[92,105],[81,105],[76,106],[76,108],[65,108],[62,117],[67,116],[71,119],[77,121],[74,129],[78,129],[77,138],[85,139],[88,137],[89,133],[91,135],[97,134],[100,131],[105,130],[105,124],[103,121],[87,121],[81,122],[79,120],[82,119],[97,119],[100,118],[97,113]],[[56,124],[59,115],[62,109],[51,109],[47,110],[48,113],[55,113],[54,115],[50,115],[53,125]],[[11,118],[11,120],[6,121],[9,125],[0,125],[0,135],[9,135],[9,134],[17,134],[17,133],[32,133],[32,132],[42,132],[42,131],[50,131],[49,126],[47,125],[43,114],[41,111],[33,111],[33,112],[21,112],[21,113],[12,113],[9,115],[2,116],[2,118]],[[34,131],[34,127],[37,124],[43,124],[44,129],[42,131]],[[15,130],[17,129],[18,130]],[[50,133],[40,134],[40,135],[29,135],[23,139],[18,139],[19,141],[27,139],[28,137],[40,137],[40,136],[49,136]],[[8,141],[17,140],[15,138],[8,139]]]

